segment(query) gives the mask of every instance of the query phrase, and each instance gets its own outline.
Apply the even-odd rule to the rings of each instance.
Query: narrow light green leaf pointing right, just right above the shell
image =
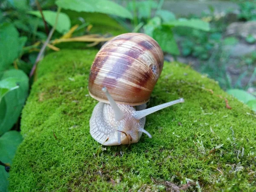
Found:
[[[179,19],[179,20],[173,20],[166,23],[163,23],[164,26],[185,26],[185,27],[191,27],[194,29],[201,29],[203,31],[209,31],[210,26],[209,23],[200,20],[200,19]]]

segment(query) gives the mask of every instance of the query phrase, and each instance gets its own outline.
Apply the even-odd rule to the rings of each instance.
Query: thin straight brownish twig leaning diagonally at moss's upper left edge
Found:
[[[31,77],[33,76],[33,74],[34,74],[34,72],[35,72],[35,69],[36,69],[36,66],[37,66],[38,62],[40,61],[41,56],[43,55],[44,50],[45,50],[45,48],[47,47],[47,44],[49,43],[50,39],[52,38],[52,34],[53,34],[53,32],[55,31],[55,28],[56,28],[57,23],[58,23],[58,15],[59,15],[60,12],[61,12],[61,8],[58,8],[58,12],[57,12],[55,24],[54,24],[54,26],[52,27],[51,31],[49,32],[49,35],[48,35],[48,37],[47,37],[47,40],[44,42],[44,45],[43,45],[43,47],[41,48],[41,50],[40,50],[40,52],[39,52],[39,54],[38,54],[38,56],[37,56],[37,58],[36,58],[36,60],[35,60],[35,63],[34,63],[34,65],[33,65],[33,67],[32,67],[32,70],[31,70],[30,73],[29,73],[29,78],[31,78]]]

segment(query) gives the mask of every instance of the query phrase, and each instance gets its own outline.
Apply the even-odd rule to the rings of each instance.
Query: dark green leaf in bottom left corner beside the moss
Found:
[[[3,163],[12,163],[15,151],[22,141],[22,136],[18,131],[8,131],[0,137],[0,160]],[[9,173],[4,166],[0,166],[0,191],[7,192]]]

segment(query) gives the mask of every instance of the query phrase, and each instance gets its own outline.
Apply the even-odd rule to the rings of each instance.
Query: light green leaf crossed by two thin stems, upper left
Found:
[[[42,18],[42,15],[39,11],[30,11],[28,13]],[[43,15],[46,22],[49,23],[49,25],[54,26],[55,20],[57,17],[57,12],[43,11]],[[70,30],[70,26],[71,26],[70,18],[67,16],[67,14],[59,13],[56,31],[64,34],[65,32],[68,32]]]

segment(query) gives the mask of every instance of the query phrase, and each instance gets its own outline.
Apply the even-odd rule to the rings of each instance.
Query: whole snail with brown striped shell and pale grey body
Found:
[[[118,35],[102,46],[89,76],[90,96],[99,103],[90,118],[90,134],[103,145],[137,143],[145,116],[184,99],[146,109],[146,102],[163,69],[163,51],[142,33]]]

